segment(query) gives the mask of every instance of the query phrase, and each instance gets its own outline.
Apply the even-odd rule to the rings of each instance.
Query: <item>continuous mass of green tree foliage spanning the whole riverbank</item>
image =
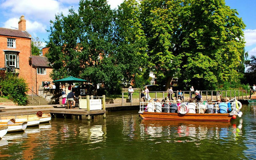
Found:
[[[197,89],[237,83],[248,63],[237,14],[224,0],[125,0],[117,10],[82,0],[51,21],[51,76],[103,83],[109,93],[134,79],[141,86],[149,71],[166,87],[173,78]]]

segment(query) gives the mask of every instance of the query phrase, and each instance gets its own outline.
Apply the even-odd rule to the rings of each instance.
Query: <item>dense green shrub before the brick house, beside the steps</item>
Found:
[[[28,97],[26,92],[28,92],[28,84],[25,83],[23,78],[19,78],[12,73],[7,73],[4,78],[0,79],[0,86],[3,96],[8,97],[14,103],[18,103],[18,105],[27,104]]]

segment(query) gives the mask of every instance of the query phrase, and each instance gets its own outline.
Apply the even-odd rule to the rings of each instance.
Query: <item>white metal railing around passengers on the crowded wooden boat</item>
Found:
[[[236,98],[233,98],[233,99],[229,100],[228,102],[198,102],[198,103],[196,103],[196,102],[181,102],[181,103],[185,103],[187,106],[194,106],[193,108],[188,107],[188,113],[189,113],[189,109],[194,110],[191,113],[194,113],[194,112],[201,113],[202,110],[200,110],[200,109],[204,110],[203,113],[205,113],[207,109],[212,109],[213,113],[214,112],[218,113],[218,110],[221,109],[221,108],[219,108],[220,103],[227,103],[227,104],[230,103],[231,107],[224,108],[224,109],[235,110],[236,103],[233,103],[233,102],[235,102],[235,100],[236,100]],[[166,113],[171,113],[171,109],[177,110],[178,106],[181,103],[180,102],[140,102],[140,111],[144,111],[144,112],[163,112],[163,110],[165,110],[165,112],[167,111]],[[148,107],[148,104],[150,105],[149,107]],[[167,104],[167,105],[165,105],[165,104]],[[176,106],[171,107],[171,104],[176,104]],[[208,104],[212,104],[213,107],[208,107],[207,108]],[[165,106],[167,106],[167,107],[165,107]]]

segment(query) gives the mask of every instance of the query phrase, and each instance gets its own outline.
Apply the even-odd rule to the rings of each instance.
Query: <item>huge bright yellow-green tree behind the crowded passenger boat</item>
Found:
[[[224,0],[143,0],[142,20],[156,76],[214,89],[235,81],[245,25]],[[167,86],[166,86],[167,87]]]

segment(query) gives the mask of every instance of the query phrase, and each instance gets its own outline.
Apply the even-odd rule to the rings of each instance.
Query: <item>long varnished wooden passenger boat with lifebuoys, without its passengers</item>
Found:
[[[233,102],[232,102],[233,101]],[[140,105],[139,116],[145,120],[178,120],[178,121],[219,121],[219,122],[229,122],[231,119],[235,119],[236,116],[241,117],[242,112],[239,110],[242,108],[242,104],[237,100],[231,100],[231,106],[233,110],[230,113],[188,113],[187,103],[180,103],[178,105],[178,113],[163,113],[163,112],[147,112],[144,110],[145,107]],[[152,102],[154,103],[154,102]],[[197,106],[203,106],[202,103]],[[237,107],[236,107],[237,106]],[[202,108],[197,108],[202,109]],[[169,110],[169,108],[168,108]]]

